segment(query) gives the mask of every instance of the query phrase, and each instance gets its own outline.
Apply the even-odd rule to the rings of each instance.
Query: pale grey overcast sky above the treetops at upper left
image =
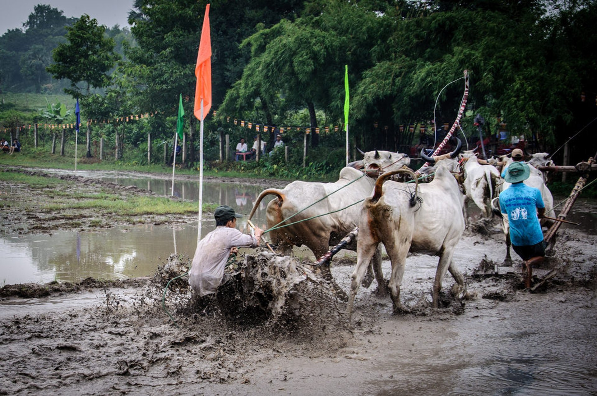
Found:
[[[23,22],[38,4],[50,4],[52,8],[64,11],[66,17],[88,14],[106,27],[128,26],[128,11],[133,8],[133,0],[0,0],[0,36],[8,29],[23,27]]]

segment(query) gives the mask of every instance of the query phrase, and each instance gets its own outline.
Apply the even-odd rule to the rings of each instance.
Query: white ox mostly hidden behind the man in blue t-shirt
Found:
[[[540,156],[538,157],[544,157],[544,154],[546,153],[538,153],[540,154]],[[533,154],[533,155],[537,155],[537,154]],[[547,158],[544,158],[544,160],[547,160]],[[536,159],[535,163],[541,163],[539,162],[539,159]],[[553,161],[549,160],[551,163],[549,166],[553,165]],[[508,156],[501,156],[500,157],[500,162],[503,163],[503,167],[504,169],[510,165],[510,163],[512,163],[512,158],[508,157]],[[545,163],[549,163],[549,162],[544,162]],[[530,168],[530,172],[529,172],[529,177],[527,180],[524,181],[524,184],[530,186],[530,187],[535,187],[537,188],[539,191],[541,191],[541,198],[543,199],[543,203],[545,205],[545,215],[546,216],[550,216],[550,217],[556,217],[555,211],[553,210],[553,196],[552,196],[552,192],[549,191],[549,188],[547,188],[547,185],[545,184],[545,175],[543,174],[543,172],[539,171],[537,168],[535,168],[533,165],[530,165],[530,163],[528,164],[529,168]],[[540,165],[540,166],[548,166],[548,165]],[[497,188],[497,196],[499,196],[499,194],[501,193],[501,191],[506,190],[506,188],[510,187],[510,183],[506,182],[503,180],[503,182],[501,182],[501,184],[498,185]],[[501,225],[504,231],[504,237],[506,239],[506,258],[504,258],[504,263],[505,264],[510,264],[512,262],[512,256],[510,256],[510,224],[508,222],[508,215],[507,214],[503,214],[500,211],[500,200],[499,197],[494,198],[491,201],[491,208],[493,209],[494,213],[497,215],[501,216]],[[553,220],[550,219],[540,219],[540,224],[541,227],[550,227],[553,224]]]

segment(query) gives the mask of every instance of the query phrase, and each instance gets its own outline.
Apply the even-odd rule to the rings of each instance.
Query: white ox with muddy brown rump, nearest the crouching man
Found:
[[[283,189],[268,188],[257,197],[249,218],[259,207],[261,200],[273,195],[275,199],[267,204],[267,227],[272,228],[282,222],[287,225],[270,232],[272,242],[278,245],[284,254],[290,254],[293,246],[305,245],[316,258],[324,255],[330,246],[340,240],[358,225],[361,201],[370,196],[377,175],[384,171],[393,171],[410,164],[407,154],[390,151],[368,151],[364,159],[358,162],[358,171],[346,166],[340,171],[336,182],[293,181]],[[312,205],[312,206],[311,206]],[[312,218],[306,220],[308,218]],[[356,250],[356,246],[347,249]],[[376,273],[381,275],[381,256],[376,262]],[[330,277],[329,267],[322,268],[324,275]],[[383,286],[380,286],[380,289]]]

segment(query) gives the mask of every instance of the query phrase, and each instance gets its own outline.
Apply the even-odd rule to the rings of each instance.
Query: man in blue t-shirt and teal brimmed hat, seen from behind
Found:
[[[504,180],[512,185],[500,194],[500,209],[508,215],[512,248],[527,267],[527,288],[531,287],[531,265],[541,264],[545,257],[543,231],[539,224],[539,219],[545,214],[545,205],[541,191],[523,183],[529,174],[526,163],[511,163]]]

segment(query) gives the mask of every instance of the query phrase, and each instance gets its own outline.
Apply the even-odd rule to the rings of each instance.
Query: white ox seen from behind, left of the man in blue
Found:
[[[491,215],[491,199],[496,193],[496,185],[500,180],[500,172],[493,165],[479,163],[473,150],[461,154],[464,169],[464,193],[481,209],[485,218]]]

